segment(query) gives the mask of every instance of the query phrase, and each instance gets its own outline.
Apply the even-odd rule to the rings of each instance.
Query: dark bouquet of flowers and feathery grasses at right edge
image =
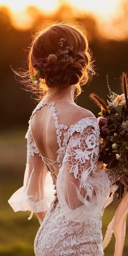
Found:
[[[109,94],[107,104],[97,94],[91,93],[90,97],[100,106],[98,124],[100,129],[100,157],[107,169],[120,167],[126,182],[128,181],[128,84],[127,75],[121,75],[122,94],[111,91],[108,83]],[[125,183],[125,182],[124,182]],[[120,199],[124,194],[124,184],[116,182],[118,190],[116,195]]]

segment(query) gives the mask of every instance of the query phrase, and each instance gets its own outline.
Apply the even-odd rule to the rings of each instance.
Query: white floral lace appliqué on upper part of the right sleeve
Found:
[[[91,172],[97,169],[99,157],[99,127],[93,119],[82,119],[71,127],[71,135],[76,131],[79,137],[71,137],[68,143],[63,162],[67,162],[69,172],[81,183],[80,187],[86,187],[84,183]],[[85,170],[86,161],[90,159],[90,166]],[[84,182],[83,182],[84,181]],[[87,188],[87,187],[86,187]]]

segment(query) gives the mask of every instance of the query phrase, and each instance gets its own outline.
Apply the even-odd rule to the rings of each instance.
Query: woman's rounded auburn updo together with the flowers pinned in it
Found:
[[[39,84],[36,86],[42,94],[48,88],[61,92],[71,85],[75,85],[80,94],[80,86],[95,74],[86,33],[75,25],[57,23],[37,33],[29,53],[29,73],[32,77],[36,72],[35,63],[45,57],[48,65],[44,66],[41,75],[39,72],[43,80],[38,77]]]

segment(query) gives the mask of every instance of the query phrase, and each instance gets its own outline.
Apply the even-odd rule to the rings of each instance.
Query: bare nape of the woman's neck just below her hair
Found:
[[[74,103],[74,85],[69,87],[68,91],[61,93],[54,93],[53,89],[49,88],[46,95],[43,97],[46,101],[67,101]]]

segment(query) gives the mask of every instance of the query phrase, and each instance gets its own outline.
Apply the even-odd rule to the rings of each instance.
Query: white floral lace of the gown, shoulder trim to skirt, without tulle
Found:
[[[97,119],[82,118],[68,128],[66,125],[59,124],[54,103],[49,104],[44,101],[41,101],[37,105],[31,117],[45,105],[53,111],[57,143],[59,145],[56,159],[56,162],[60,163],[57,182],[63,184],[63,176],[61,180],[59,180],[59,176],[65,171],[65,169],[62,169],[63,164],[65,165],[67,163],[69,172],[72,172],[75,179],[80,181],[80,188],[84,187],[91,196],[93,182],[98,182],[99,179],[99,176],[93,176],[89,180],[89,185],[87,186],[86,184],[87,178],[93,173],[95,175],[95,170],[97,169],[99,156],[99,127],[97,125]],[[40,154],[40,152],[36,147],[30,131],[31,117],[29,120],[29,129],[25,137],[28,139],[28,155],[33,156],[35,153]],[[61,141],[62,130],[66,130],[66,132]],[[79,138],[77,136],[72,137],[75,132],[78,133]],[[89,159],[90,165],[85,170],[84,164]],[[45,162],[45,159],[43,160]],[[109,187],[107,175],[105,177],[106,182],[104,181],[104,183],[106,183],[106,187],[104,188],[107,189]],[[113,182],[115,178],[113,178]],[[101,174],[100,179],[103,180],[103,174]],[[99,183],[101,183],[100,179]],[[58,185],[59,191],[61,190],[61,184],[60,188]],[[59,200],[61,202],[61,197]],[[41,226],[37,231],[34,241],[35,256],[103,256],[101,208],[98,209],[98,213],[95,216],[88,216],[86,220],[76,222],[66,219],[63,206],[60,202],[58,201],[56,206],[54,205],[54,201],[50,204],[43,221],[40,218],[41,213],[38,215]],[[86,216],[86,212],[82,214]]]

